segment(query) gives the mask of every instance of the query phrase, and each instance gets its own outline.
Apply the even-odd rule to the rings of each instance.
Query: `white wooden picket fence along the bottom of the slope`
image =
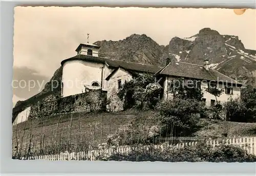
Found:
[[[163,150],[166,146],[168,147],[184,147],[184,146],[194,146],[198,142],[184,142],[184,143],[178,143],[176,145],[169,145],[169,144],[159,144],[159,145],[153,145],[155,149]],[[207,144],[212,145],[212,147],[215,147],[217,145],[220,145],[221,143],[224,143],[226,145],[238,145],[240,147],[243,147],[247,150],[248,154],[256,155],[256,137],[243,137],[243,138],[231,138],[231,139],[223,139],[223,140],[208,140],[206,141]],[[55,155],[44,155],[44,156],[31,156],[28,158],[28,160],[51,160],[51,161],[63,161],[63,160],[89,160],[89,161],[95,161],[97,160],[98,156],[101,157],[108,157],[113,154],[128,154],[132,151],[132,149],[150,149],[150,146],[144,145],[140,147],[132,147],[132,146],[120,146],[120,147],[111,147],[106,149],[98,149],[98,150],[90,150],[88,152],[73,152],[73,153],[60,153]],[[22,158],[23,160],[26,160],[27,158]]]

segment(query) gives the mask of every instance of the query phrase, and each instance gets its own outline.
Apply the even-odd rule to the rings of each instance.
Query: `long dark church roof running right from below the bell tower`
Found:
[[[135,62],[106,59],[102,57],[95,57],[95,56],[88,56],[88,55],[77,55],[75,57],[65,59],[61,62],[61,65],[63,65],[65,62],[70,60],[84,60],[89,62],[107,63],[109,64],[110,67],[114,67],[114,68],[122,67],[130,71],[133,70],[133,71],[151,72],[151,73],[156,73],[158,70],[162,68],[154,65],[139,64]]]

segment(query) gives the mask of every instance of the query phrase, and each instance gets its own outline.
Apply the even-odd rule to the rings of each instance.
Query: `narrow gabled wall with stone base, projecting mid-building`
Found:
[[[132,75],[122,69],[119,68],[116,73],[110,78],[108,81],[108,94],[107,97],[111,100],[110,109],[111,111],[121,111],[123,110],[123,102],[117,96],[118,93],[118,80],[121,80],[121,84],[124,84],[125,81],[130,81]]]

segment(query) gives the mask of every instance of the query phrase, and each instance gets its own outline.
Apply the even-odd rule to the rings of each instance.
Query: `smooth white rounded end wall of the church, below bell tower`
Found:
[[[83,93],[84,86],[91,86],[93,82],[101,84],[101,63],[81,60],[67,61],[63,64],[62,96]]]

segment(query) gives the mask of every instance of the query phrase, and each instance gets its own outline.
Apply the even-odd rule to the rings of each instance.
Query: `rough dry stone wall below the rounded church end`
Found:
[[[31,106],[28,118],[43,118],[70,112],[104,111],[105,100],[106,92],[102,90],[91,90],[67,97],[59,97],[58,93],[50,94]],[[20,111],[22,110],[20,109]]]

